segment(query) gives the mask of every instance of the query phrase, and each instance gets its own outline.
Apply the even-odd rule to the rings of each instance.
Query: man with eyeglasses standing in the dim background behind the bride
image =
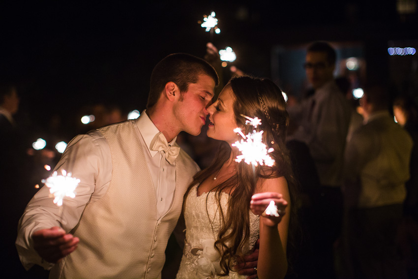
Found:
[[[314,219],[308,220],[315,270],[321,278],[335,278],[333,243],[342,219],[343,155],[351,109],[335,84],[336,53],[327,42],[312,43],[303,64],[313,94],[288,109],[298,125],[291,138],[306,143],[321,182],[318,196],[311,196]]]

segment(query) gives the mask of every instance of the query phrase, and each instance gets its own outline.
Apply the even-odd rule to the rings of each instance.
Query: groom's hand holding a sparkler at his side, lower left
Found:
[[[73,252],[79,239],[59,227],[42,229],[32,234],[33,248],[39,256],[50,263],[57,263],[61,258]]]

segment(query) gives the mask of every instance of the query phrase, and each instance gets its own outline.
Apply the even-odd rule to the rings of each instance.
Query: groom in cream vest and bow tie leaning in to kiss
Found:
[[[199,170],[176,138],[200,133],[216,85],[206,61],[169,55],[152,71],[138,119],[76,136],[55,170],[80,179],[77,195],[62,214],[46,186],[32,198],[16,240],[24,267],[51,269],[50,278],[160,278],[183,195]]]

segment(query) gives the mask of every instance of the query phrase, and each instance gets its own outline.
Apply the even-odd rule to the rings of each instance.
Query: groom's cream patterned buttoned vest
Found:
[[[176,159],[176,191],[170,210],[160,219],[135,121],[98,130],[112,155],[112,181],[106,195],[86,206],[71,231],[78,248],[51,271],[50,278],[158,278],[167,241],[181,212],[183,195],[196,163],[184,151]]]

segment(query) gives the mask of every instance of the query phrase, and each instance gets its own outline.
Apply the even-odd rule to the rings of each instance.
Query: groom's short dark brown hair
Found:
[[[181,94],[187,91],[190,83],[197,83],[201,74],[210,76],[215,85],[219,84],[215,69],[205,60],[185,53],[170,54],[152,70],[147,108],[155,105],[168,82],[174,82]]]

